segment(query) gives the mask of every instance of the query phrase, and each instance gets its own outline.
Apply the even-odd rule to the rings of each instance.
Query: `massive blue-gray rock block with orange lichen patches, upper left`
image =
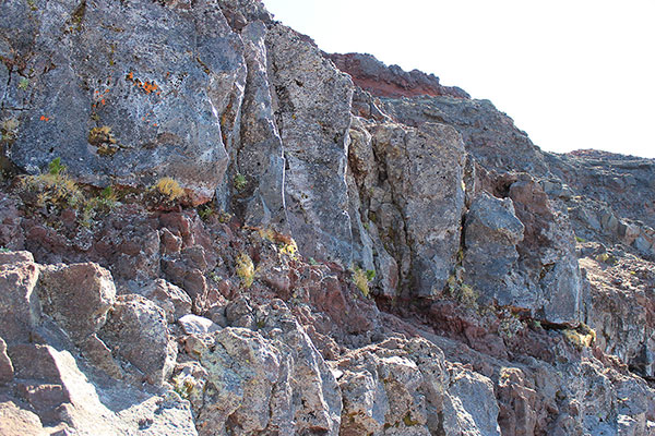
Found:
[[[147,187],[170,177],[193,203],[213,196],[246,75],[241,40],[215,2],[15,0],[0,14],[0,56],[33,71],[26,90],[2,100],[20,122],[16,165],[34,173],[60,157],[88,183]],[[20,77],[12,70],[12,89]]]

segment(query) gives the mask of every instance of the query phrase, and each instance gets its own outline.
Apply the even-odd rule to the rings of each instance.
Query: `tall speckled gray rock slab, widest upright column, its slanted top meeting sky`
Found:
[[[353,83],[288,27],[266,34],[273,110],[284,143],[286,207],[300,252],[352,262],[345,182]]]

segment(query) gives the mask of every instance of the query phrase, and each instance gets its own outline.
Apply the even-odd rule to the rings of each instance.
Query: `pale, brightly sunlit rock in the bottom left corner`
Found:
[[[29,380],[22,397],[44,423],[81,435],[127,436],[136,429],[153,436],[198,434],[189,403],[172,392],[153,395],[141,386],[94,384],[69,351],[50,346],[21,344],[10,353],[16,377]],[[0,428],[3,423],[4,419],[0,420]]]

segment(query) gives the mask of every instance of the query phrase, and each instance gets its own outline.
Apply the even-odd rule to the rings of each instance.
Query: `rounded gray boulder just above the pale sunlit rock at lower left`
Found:
[[[160,386],[172,372],[177,346],[169,340],[166,314],[141,295],[120,295],[98,338],[136,382]]]

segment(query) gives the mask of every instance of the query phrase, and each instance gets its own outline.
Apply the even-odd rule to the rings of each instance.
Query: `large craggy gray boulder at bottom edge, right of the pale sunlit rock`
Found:
[[[282,301],[237,304],[228,323],[249,328],[186,339],[203,370],[187,365],[176,378],[189,387],[200,434],[338,434],[338,385],[290,311]]]

